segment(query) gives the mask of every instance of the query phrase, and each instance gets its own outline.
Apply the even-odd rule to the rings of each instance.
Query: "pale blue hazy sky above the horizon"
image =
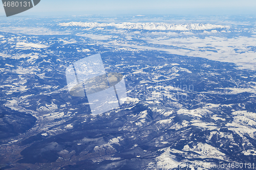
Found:
[[[34,8],[17,15],[254,15],[255,9],[256,0],[41,0]],[[5,15],[3,6],[0,7],[0,15]]]

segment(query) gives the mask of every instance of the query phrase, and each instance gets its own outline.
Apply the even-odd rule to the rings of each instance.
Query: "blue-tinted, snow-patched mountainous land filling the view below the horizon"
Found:
[[[0,28],[0,169],[255,169],[254,22],[28,20]],[[129,99],[93,115],[65,70],[97,53]]]

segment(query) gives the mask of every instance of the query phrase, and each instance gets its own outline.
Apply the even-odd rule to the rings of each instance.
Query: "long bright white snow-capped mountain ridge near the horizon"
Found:
[[[169,23],[154,23],[154,22],[123,22],[123,23],[98,23],[98,22],[63,22],[59,23],[62,27],[87,27],[87,28],[102,28],[115,27],[117,29],[129,30],[148,30],[148,31],[190,31],[190,30],[214,30],[214,29],[229,29],[228,26],[203,24],[203,23],[188,23],[188,24],[169,24]]]

